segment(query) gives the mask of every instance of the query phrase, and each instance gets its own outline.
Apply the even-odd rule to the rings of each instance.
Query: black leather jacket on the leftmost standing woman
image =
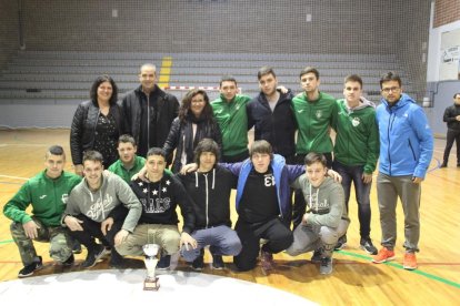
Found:
[[[124,124],[122,120],[122,112],[120,105],[114,103],[109,111],[118,128],[118,134],[124,133]],[[97,102],[84,101],[81,102],[73,115],[72,125],[70,128],[70,152],[72,154],[72,162],[74,165],[83,163],[83,152],[93,149],[96,125],[100,109]],[[118,141],[118,140],[117,140]]]

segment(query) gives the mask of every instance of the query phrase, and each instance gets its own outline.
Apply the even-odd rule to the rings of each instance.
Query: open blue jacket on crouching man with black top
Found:
[[[221,164],[230,170],[234,175],[238,175],[237,185],[237,212],[240,205],[241,196],[244,191],[246,181],[253,165],[250,159],[241,163],[234,164]],[[280,207],[281,217],[283,220],[290,220],[291,206],[289,197],[291,196],[290,184],[296,181],[298,176],[304,173],[303,165],[287,165],[284,157],[278,154],[273,154],[273,160],[270,163],[273,170],[274,184],[277,186],[278,205]]]

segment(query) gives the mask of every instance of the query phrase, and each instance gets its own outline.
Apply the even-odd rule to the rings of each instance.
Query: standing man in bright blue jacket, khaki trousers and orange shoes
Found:
[[[421,182],[433,153],[433,135],[423,109],[402,93],[399,75],[388,72],[380,79],[383,99],[377,108],[380,133],[380,163],[377,197],[380,210],[382,246],[376,264],[394,258],[397,237],[396,205],[401,198],[404,212],[406,269],[417,268],[420,238]]]

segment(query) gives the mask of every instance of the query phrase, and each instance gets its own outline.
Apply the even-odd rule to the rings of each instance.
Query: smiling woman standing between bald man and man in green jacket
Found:
[[[204,90],[192,89],[182,99],[179,116],[174,119],[164,142],[167,155],[176,149],[172,172],[193,162],[193,150],[202,139],[212,139],[222,147],[222,136],[217,124],[208,94]]]

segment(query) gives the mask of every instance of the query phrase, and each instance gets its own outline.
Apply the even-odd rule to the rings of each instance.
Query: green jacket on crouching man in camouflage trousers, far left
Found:
[[[22,185],[18,193],[3,207],[3,214],[20,223],[27,223],[32,216],[26,208],[32,205],[32,215],[47,226],[60,226],[62,213],[72,188],[81,182],[81,177],[62,172],[56,180],[49,178],[46,171],[40,172]]]

